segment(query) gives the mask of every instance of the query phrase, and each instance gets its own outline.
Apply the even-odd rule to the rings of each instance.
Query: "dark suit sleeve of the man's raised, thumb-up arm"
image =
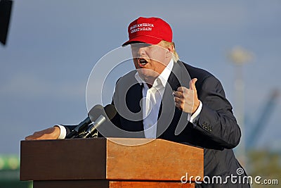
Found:
[[[218,146],[234,148],[240,142],[241,131],[221,82],[216,77],[209,76],[200,86],[197,91],[200,91],[198,98],[202,101],[202,111],[195,129]]]

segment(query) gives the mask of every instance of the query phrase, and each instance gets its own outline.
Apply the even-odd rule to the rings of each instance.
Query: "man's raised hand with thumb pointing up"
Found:
[[[195,82],[197,78],[193,78],[189,82],[189,88],[178,87],[177,91],[174,92],[174,99],[176,107],[184,111],[185,113],[195,113],[200,101],[197,97],[197,90],[195,87]]]

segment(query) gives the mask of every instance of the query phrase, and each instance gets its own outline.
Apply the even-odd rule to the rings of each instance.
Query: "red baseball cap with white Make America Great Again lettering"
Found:
[[[133,20],[128,27],[129,41],[128,44],[144,42],[147,44],[158,44],[162,40],[172,42],[173,32],[168,23],[161,18],[143,18]]]

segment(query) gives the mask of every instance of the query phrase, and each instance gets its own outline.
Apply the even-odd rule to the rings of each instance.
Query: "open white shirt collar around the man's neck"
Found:
[[[171,58],[171,61],[168,63],[168,65],[166,65],[166,68],[164,68],[162,73],[153,82],[152,87],[155,87],[157,84],[159,84],[159,82],[157,82],[157,80],[161,81],[161,84],[163,85],[163,87],[165,87],[166,82],[168,82],[168,78],[171,75],[171,70],[173,69],[173,67],[174,67],[174,60],[173,60],[173,58]],[[139,84],[145,83],[145,81],[138,74],[138,71],[136,72],[135,77]],[[147,85],[147,84],[145,83],[145,85]]]

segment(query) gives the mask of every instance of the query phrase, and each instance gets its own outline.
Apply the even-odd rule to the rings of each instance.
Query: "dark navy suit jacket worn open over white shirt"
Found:
[[[136,71],[132,71],[121,77],[117,81],[113,96],[113,103],[119,113],[112,122],[127,132],[115,130],[105,137],[145,137],[140,102],[143,98],[143,88],[136,81],[135,74]],[[190,79],[195,77],[198,99],[202,101],[203,106],[200,118],[192,124],[188,121],[188,114],[176,108],[172,92],[180,86],[189,87]],[[240,127],[233,115],[232,106],[226,99],[221,82],[206,70],[181,61],[174,63],[159,110],[157,137],[203,148],[204,175],[210,178],[220,175],[224,181],[226,176],[237,175],[236,170],[241,168],[233,153],[233,148],[240,142]],[[197,184],[197,187],[249,187],[249,185],[233,184],[228,180],[226,184]]]

